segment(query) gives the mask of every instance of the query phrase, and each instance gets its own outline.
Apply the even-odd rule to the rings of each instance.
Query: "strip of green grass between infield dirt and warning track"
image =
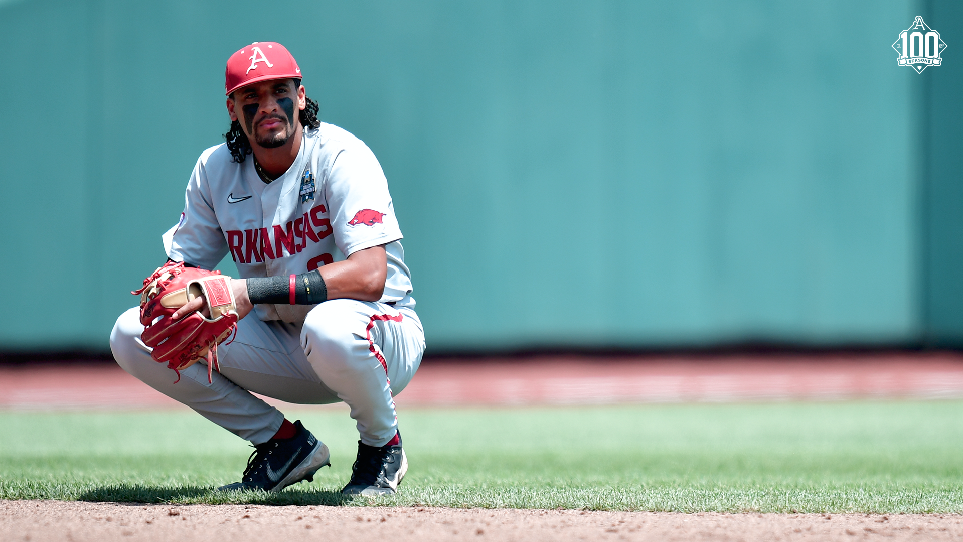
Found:
[[[645,405],[400,412],[392,498],[342,501],[344,409],[289,412],[331,469],[277,495],[220,494],[249,447],[189,411],[0,413],[0,499],[653,511],[963,511],[963,402]]]

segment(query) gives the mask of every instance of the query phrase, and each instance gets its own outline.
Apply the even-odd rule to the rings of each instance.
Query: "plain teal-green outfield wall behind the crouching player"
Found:
[[[0,0],[0,37],[0,350],[107,347],[250,41],[376,152],[429,351],[963,345],[958,3]]]

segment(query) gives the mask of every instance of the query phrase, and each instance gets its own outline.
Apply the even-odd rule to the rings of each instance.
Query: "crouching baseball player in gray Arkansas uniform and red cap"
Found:
[[[402,232],[375,154],[319,122],[300,81],[279,43],[254,42],[230,56],[227,141],[200,154],[184,212],[163,235],[173,274],[213,269],[227,254],[237,263],[242,279],[227,279],[237,318],[231,339],[208,344],[216,349],[209,366],[205,358],[159,364],[142,337],[152,324],[142,304],[117,318],[111,349],[124,370],[253,445],[241,481],[221,489],[280,491],[329,464],[325,444],[252,394],[260,393],[347,403],[360,440],[342,492],[392,494],[407,470],[393,396],[425,350]],[[211,317],[205,295],[184,299],[170,322]]]

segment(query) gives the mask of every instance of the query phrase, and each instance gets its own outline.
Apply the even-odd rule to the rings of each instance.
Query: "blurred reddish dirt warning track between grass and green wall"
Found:
[[[430,407],[867,397],[963,397],[963,354],[433,359],[397,401]],[[184,408],[113,364],[0,366],[0,409],[160,407]]]

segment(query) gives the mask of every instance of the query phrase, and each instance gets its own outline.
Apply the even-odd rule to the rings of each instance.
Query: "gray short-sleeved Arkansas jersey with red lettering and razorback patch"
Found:
[[[402,231],[374,152],[333,124],[305,129],[294,164],[270,183],[252,155],[238,164],[226,145],[204,150],[180,221],[164,234],[168,257],[213,269],[230,254],[241,278],[288,276],[385,245],[381,303],[413,308]],[[300,322],[314,306],[257,305],[262,320]]]

